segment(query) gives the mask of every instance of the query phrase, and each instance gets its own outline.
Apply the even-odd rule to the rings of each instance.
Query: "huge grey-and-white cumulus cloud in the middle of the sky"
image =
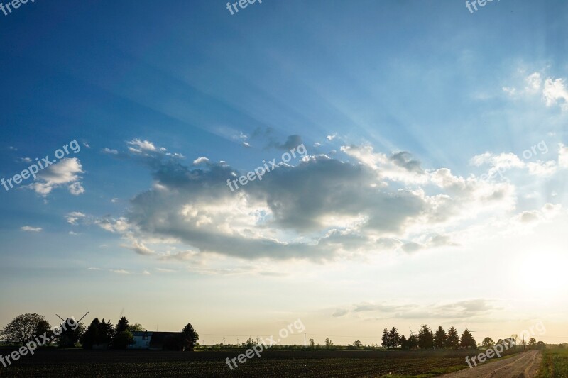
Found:
[[[136,149],[142,145],[151,150],[154,144],[140,142]],[[96,223],[129,240],[125,248],[162,260],[216,254],[324,261],[377,249],[456,245],[445,229],[459,230],[484,213],[508,218],[515,207],[515,187],[508,182],[426,169],[409,152],[384,154],[356,145],[342,152],[350,161],[309,155],[231,192],[226,180],[241,172],[227,162],[197,158],[187,166],[159,149],[131,151],[148,167],[153,184],[133,197],[124,216]],[[512,157],[497,161],[515,164]],[[135,240],[168,240],[182,251],[157,253]]]

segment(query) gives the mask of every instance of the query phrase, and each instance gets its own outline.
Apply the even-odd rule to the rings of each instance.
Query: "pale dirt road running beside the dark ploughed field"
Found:
[[[540,352],[530,350],[505,360],[486,362],[473,369],[446,374],[445,378],[532,378],[540,366]]]

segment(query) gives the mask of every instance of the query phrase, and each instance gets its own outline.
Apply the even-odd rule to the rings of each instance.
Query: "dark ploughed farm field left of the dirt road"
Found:
[[[267,350],[261,358],[231,371],[225,359],[241,352],[38,350],[9,368],[0,367],[0,377],[435,377],[466,368],[465,356],[475,354],[464,350]]]

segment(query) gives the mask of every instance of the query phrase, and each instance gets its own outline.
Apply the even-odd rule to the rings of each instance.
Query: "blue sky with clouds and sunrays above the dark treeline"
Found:
[[[568,342],[565,1],[232,13],[0,12],[0,325]]]

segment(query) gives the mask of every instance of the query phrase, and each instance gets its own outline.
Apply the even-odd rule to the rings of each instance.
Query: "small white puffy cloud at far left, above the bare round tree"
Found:
[[[77,157],[63,159],[43,169],[29,187],[36,193],[47,196],[53,189],[67,185],[71,194],[79,195],[84,193],[80,182],[82,173],[82,165]]]

